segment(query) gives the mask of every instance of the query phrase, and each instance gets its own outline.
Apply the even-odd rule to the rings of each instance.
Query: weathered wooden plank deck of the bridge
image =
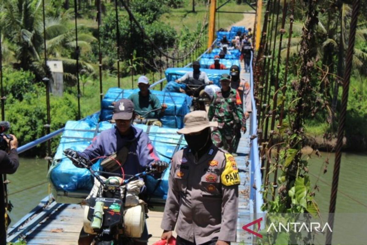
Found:
[[[241,67],[244,68],[242,62]],[[243,70],[242,70],[243,71]],[[241,77],[249,80],[248,73],[242,73]],[[251,213],[253,203],[249,199],[250,196],[250,173],[251,163],[249,162],[248,154],[250,152],[250,138],[248,131],[250,122],[247,122],[247,132],[241,137],[238,156],[236,162],[240,170],[241,185],[239,187],[239,214],[237,220],[237,244],[252,244],[252,237],[246,233],[242,226],[252,221]],[[46,202],[43,200],[43,202]],[[42,209],[42,203],[39,205],[39,210]],[[37,245],[73,245],[77,244],[81,227],[83,226],[84,209],[76,204],[58,204],[53,203],[52,207],[42,209],[40,212],[29,213],[17,224],[10,228],[11,234],[8,235],[8,241],[14,241],[15,237],[20,236],[27,244]],[[162,209],[163,210],[163,209]],[[153,244],[160,240],[162,230],[160,223],[162,219],[162,210],[150,211],[147,219],[148,231],[152,234],[149,239],[149,244]],[[22,221],[29,219],[28,223]],[[33,221],[33,222],[32,222]],[[15,230],[15,227],[19,228]]]

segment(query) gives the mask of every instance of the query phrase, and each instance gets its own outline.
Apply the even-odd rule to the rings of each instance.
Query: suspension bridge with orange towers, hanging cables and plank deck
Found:
[[[226,1],[227,3],[228,1]],[[151,48],[157,54],[157,60],[159,61],[158,71],[160,72],[160,80],[154,82],[151,85],[151,89],[163,90],[164,83],[167,78],[163,78],[162,73],[164,69],[169,67],[190,67],[191,63],[188,62],[196,57],[196,60],[201,60],[203,55],[210,54],[214,49],[215,44],[219,41],[216,39],[215,32],[215,22],[218,19],[215,18],[216,13],[221,12],[219,9],[222,6],[217,6],[216,1],[209,0],[207,4],[207,15],[205,16],[200,30],[200,34],[189,51],[183,54],[178,53],[168,53],[164,51],[163,48],[157,47],[152,40],[146,35],[143,26],[139,24],[134,14],[131,12],[130,8],[125,1],[120,1],[121,6],[125,8],[128,13],[130,26],[132,23],[138,26],[142,37],[150,42]],[[353,11],[357,16],[359,1],[353,2]],[[101,6],[100,1],[98,1],[98,30],[101,23]],[[225,4],[225,3],[224,3]],[[243,69],[245,64],[243,61],[240,62],[241,66],[241,78],[250,83],[251,89],[251,104],[252,104],[252,114],[247,120],[247,132],[241,137],[239,148],[237,150],[238,156],[236,156],[236,162],[238,168],[242,171],[240,172],[241,185],[239,187],[239,213],[237,220],[237,243],[241,244],[254,244],[256,238],[243,230],[242,226],[256,220],[262,215],[262,205],[264,204],[263,195],[261,193],[263,181],[262,176],[264,176],[264,183],[270,183],[273,186],[272,195],[275,196],[277,188],[277,168],[274,171],[274,179],[269,180],[269,172],[271,165],[271,149],[276,149],[275,156],[279,156],[280,147],[275,144],[274,137],[276,131],[281,129],[284,120],[284,100],[278,103],[278,96],[285,96],[285,83],[287,82],[287,72],[289,66],[289,56],[290,56],[290,44],[292,35],[288,35],[288,47],[287,55],[285,60],[285,74],[283,75],[283,81],[280,81],[280,65],[281,65],[281,49],[283,35],[285,33],[292,33],[292,23],[294,14],[294,0],[291,0],[288,4],[287,1],[280,4],[279,0],[269,0],[266,3],[265,11],[262,11],[263,3],[258,1],[255,3],[248,3],[254,9],[254,12],[249,12],[247,14],[253,14],[255,18],[255,25],[251,26],[254,29],[254,35],[252,38],[252,43],[254,44],[255,53],[251,55],[250,62],[250,72],[246,73]],[[75,0],[76,6],[76,0]],[[116,22],[118,23],[119,17],[117,15],[117,4],[116,0]],[[43,5],[44,7],[44,5]],[[223,12],[223,11],[222,11]],[[232,12],[233,14],[235,11]],[[240,12],[243,14],[243,12]],[[77,16],[77,10],[75,8],[75,15]],[[44,18],[44,15],[43,15]],[[289,23],[286,25],[286,21]],[[355,20],[356,21],[356,20]],[[352,20],[352,25],[355,21]],[[261,26],[262,24],[262,26]],[[75,18],[76,25],[76,35],[77,35],[77,18]],[[288,29],[286,28],[288,26]],[[208,27],[208,28],[206,28]],[[119,25],[116,25],[116,32],[119,33]],[[248,28],[248,27],[246,27]],[[353,34],[354,29],[354,34]],[[45,33],[45,32],[44,32]],[[351,26],[351,34],[353,37],[355,35],[355,26]],[[0,35],[1,36],[1,35]],[[45,38],[46,40],[46,38]],[[277,42],[279,40],[279,42]],[[133,42],[133,40],[131,40]],[[76,36],[76,54],[79,54],[79,47],[77,44]],[[353,52],[353,42],[350,42],[347,55],[351,55]],[[277,44],[277,45],[276,45]],[[100,87],[100,100],[103,100],[102,92],[102,53],[101,44],[99,43],[99,87]],[[46,48],[46,43],[44,44]],[[116,46],[120,47],[119,35],[117,35]],[[207,47],[204,53],[198,53],[202,47]],[[118,49],[117,49],[118,50]],[[45,62],[47,61],[47,51],[45,49]],[[117,86],[120,87],[120,66],[119,66],[119,52],[117,51]],[[350,57],[349,57],[350,58]],[[238,58],[237,58],[238,59]],[[78,68],[78,56],[77,60],[77,89],[78,95],[80,95],[80,85],[79,85],[79,68]],[[132,58],[131,58],[132,62]],[[344,80],[346,83],[343,84],[345,89],[348,89],[348,81],[350,78],[350,59],[346,61],[346,75]],[[1,64],[0,64],[1,65]],[[45,63],[47,65],[47,63]],[[349,70],[348,70],[349,69]],[[349,72],[348,72],[349,71]],[[131,87],[134,88],[134,72],[132,75]],[[24,152],[38,144],[47,142],[48,150],[47,156],[49,160],[49,167],[51,166],[51,139],[59,134],[62,134],[65,129],[59,129],[54,132],[50,132],[50,78],[44,78],[44,83],[46,84],[47,91],[47,123],[45,125],[47,129],[47,135],[41,137],[40,139],[24,145],[18,148],[18,152]],[[126,88],[124,88],[126,89]],[[348,91],[347,91],[348,92]],[[344,94],[343,94],[344,95]],[[1,80],[1,97],[4,98],[2,80]],[[348,97],[343,97],[343,108],[342,113],[346,110],[346,100]],[[302,103],[301,103],[302,105]],[[4,120],[4,100],[1,100],[2,106],[2,117]],[[280,110],[277,109],[280,107]],[[80,115],[80,96],[78,96],[78,112]],[[345,118],[343,119],[345,123]],[[277,125],[276,125],[277,123]],[[341,128],[339,128],[338,135],[338,148],[337,155],[341,152],[341,139],[343,136],[343,123]],[[97,130],[98,131],[98,130]],[[339,138],[341,138],[339,140]],[[331,197],[330,213],[335,212],[335,199],[338,186],[338,165],[340,165],[340,157],[337,158],[334,170],[333,179],[333,194]],[[4,176],[6,180],[6,176]],[[6,185],[5,185],[6,186]],[[265,200],[266,201],[266,200]],[[152,234],[152,238],[149,243],[152,244],[160,239],[162,230],[157,228],[157,223],[160,223],[162,217],[161,212],[152,211],[148,213],[149,219],[147,219],[147,226],[149,233]],[[332,220],[330,220],[332,222]],[[13,224],[8,229],[8,242],[15,242],[19,239],[25,239],[27,244],[76,244],[79,237],[80,228],[83,223],[83,208],[77,204],[66,204],[57,203],[53,201],[50,197],[46,197],[41,200],[40,204],[35,207],[31,212],[19,220],[16,224]],[[331,241],[331,235],[328,234],[328,239]]]

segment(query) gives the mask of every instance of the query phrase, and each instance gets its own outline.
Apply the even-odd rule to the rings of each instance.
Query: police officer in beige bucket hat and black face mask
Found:
[[[172,158],[161,239],[167,241],[176,227],[177,245],[226,245],[236,241],[239,174],[231,154],[210,138],[205,111],[183,119],[188,146]]]

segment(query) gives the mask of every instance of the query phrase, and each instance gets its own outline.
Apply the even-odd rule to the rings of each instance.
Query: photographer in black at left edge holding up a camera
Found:
[[[3,184],[3,174],[12,174],[15,173],[19,166],[18,159],[18,140],[17,138],[10,134],[12,139],[8,139],[6,136],[3,136],[3,140],[7,142],[9,147],[9,151],[6,152],[3,149],[0,149],[0,244],[6,244],[6,230],[5,230],[5,200],[4,200],[4,184]]]

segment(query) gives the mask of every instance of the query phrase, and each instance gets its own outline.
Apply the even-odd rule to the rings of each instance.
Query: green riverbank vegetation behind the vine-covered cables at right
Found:
[[[281,62],[279,72],[280,86],[284,84],[285,60],[287,55],[287,44],[290,27],[290,1],[288,2],[288,17],[284,27],[283,42],[281,44]],[[277,60],[277,48],[279,46],[279,30],[281,29],[281,9],[278,21],[278,35],[275,43],[275,61]],[[361,10],[358,16],[355,53],[353,55],[352,75],[350,78],[350,89],[348,97],[348,108],[345,128],[346,151],[367,151],[367,24],[366,11],[367,4],[361,3]],[[271,15],[276,11],[271,11]],[[290,43],[290,58],[287,77],[286,97],[278,96],[277,105],[282,100],[285,101],[284,109],[288,122],[288,115],[291,115],[292,103],[294,103],[294,91],[298,89],[294,86],[295,81],[300,75],[302,28],[306,21],[307,3],[295,1],[294,22],[292,26],[292,36]],[[350,20],[352,15],[351,1],[318,1],[316,4],[317,24],[314,30],[315,47],[315,71],[312,79],[317,83],[310,84],[309,106],[303,113],[304,128],[309,145],[324,151],[334,151],[338,119],[340,116],[342,82],[345,71],[346,50],[348,48]],[[273,16],[273,15],[272,15]],[[270,23],[269,23],[270,24]],[[275,24],[274,24],[275,25]],[[271,47],[274,41],[269,42]],[[275,62],[276,63],[276,62]],[[270,83],[272,84],[271,93],[274,94],[273,85],[276,77],[276,65],[270,72]],[[272,108],[272,105],[270,105]]]

